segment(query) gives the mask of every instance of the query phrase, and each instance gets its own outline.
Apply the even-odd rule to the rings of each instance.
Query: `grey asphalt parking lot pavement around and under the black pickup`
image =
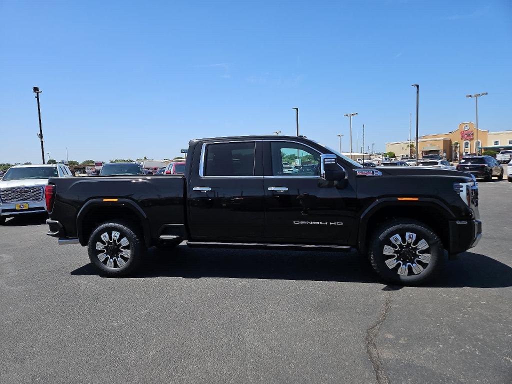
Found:
[[[426,287],[355,254],[151,249],[101,278],[44,218],[0,227],[0,382],[510,383],[512,183]]]

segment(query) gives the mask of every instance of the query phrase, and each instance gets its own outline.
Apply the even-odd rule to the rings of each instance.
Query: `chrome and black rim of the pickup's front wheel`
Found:
[[[389,269],[396,270],[401,276],[409,276],[418,275],[429,266],[431,254],[424,251],[430,245],[424,239],[415,243],[416,238],[417,235],[413,232],[406,232],[405,241],[402,241],[398,233],[389,238],[389,244],[382,250]]]

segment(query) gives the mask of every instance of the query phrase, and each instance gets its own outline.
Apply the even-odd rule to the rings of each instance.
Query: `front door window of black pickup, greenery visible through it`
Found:
[[[273,176],[318,176],[320,154],[311,148],[286,141],[270,143]],[[283,163],[296,165],[283,165]]]

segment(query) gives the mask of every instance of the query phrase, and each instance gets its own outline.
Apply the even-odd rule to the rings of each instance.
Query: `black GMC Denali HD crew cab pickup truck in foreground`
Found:
[[[298,166],[290,166],[296,164]],[[305,137],[189,142],[184,175],[52,178],[49,236],[88,246],[104,275],[134,272],[148,247],[356,249],[390,282],[419,284],[481,236],[463,172],[365,168]]]

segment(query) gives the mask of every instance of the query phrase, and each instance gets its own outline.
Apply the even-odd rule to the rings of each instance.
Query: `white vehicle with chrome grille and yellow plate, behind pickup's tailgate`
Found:
[[[63,164],[14,165],[0,181],[0,225],[9,217],[46,212],[45,188],[51,177],[73,177]]]

